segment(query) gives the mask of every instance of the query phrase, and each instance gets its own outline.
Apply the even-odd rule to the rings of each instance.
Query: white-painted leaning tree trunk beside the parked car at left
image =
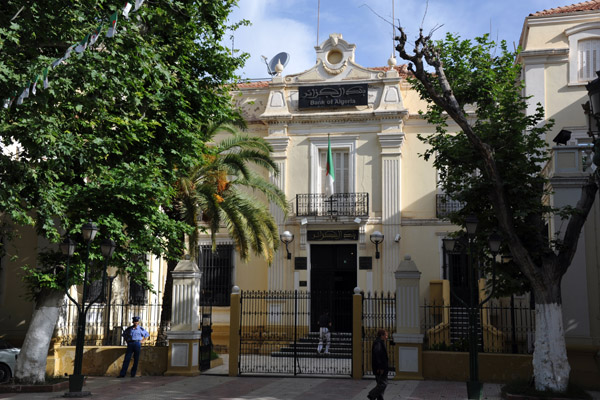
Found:
[[[40,293],[21,353],[17,358],[15,368],[17,382],[36,384],[45,381],[48,347],[64,296],[64,293],[58,291]]]

